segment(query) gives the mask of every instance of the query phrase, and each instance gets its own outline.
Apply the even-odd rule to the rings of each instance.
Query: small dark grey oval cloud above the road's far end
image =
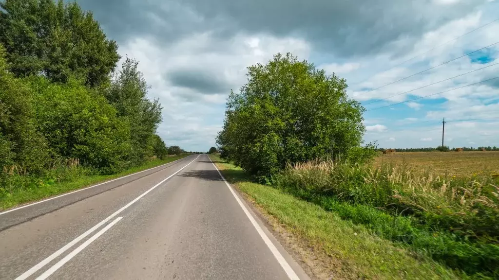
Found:
[[[189,88],[203,94],[225,93],[230,85],[217,76],[217,73],[207,73],[199,70],[177,70],[166,77],[172,85]]]

